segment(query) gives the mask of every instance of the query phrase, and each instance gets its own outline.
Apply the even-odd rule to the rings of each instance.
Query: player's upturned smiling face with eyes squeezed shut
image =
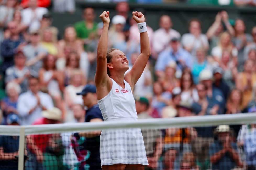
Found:
[[[129,69],[129,62],[125,54],[120,50],[114,50],[111,52],[112,60],[107,66],[111,69],[127,71]]]

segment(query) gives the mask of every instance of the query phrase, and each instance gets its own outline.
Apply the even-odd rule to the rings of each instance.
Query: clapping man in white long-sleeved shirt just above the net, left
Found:
[[[31,125],[36,119],[42,117],[42,110],[53,108],[51,96],[40,91],[38,78],[29,77],[29,89],[19,96],[17,102],[21,125]]]

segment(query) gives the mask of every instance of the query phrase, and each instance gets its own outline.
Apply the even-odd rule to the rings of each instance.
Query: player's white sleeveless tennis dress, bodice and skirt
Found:
[[[137,121],[135,101],[129,83],[125,88],[113,79],[107,96],[98,101],[104,121]],[[140,128],[124,130],[102,130],[100,136],[102,165],[142,164],[148,165],[145,146]]]

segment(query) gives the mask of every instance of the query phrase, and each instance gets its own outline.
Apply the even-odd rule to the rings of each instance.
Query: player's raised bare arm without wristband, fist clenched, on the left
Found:
[[[97,88],[107,87],[109,79],[107,74],[109,11],[104,11],[99,17],[103,21],[104,26],[97,48],[97,68],[95,74],[95,84]]]

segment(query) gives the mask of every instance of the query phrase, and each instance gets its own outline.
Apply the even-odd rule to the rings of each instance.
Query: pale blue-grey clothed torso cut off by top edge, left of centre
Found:
[[[53,11],[57,13],[69,12],[74,13],[76,4],[74,0],[55,0],[53,3]]]

